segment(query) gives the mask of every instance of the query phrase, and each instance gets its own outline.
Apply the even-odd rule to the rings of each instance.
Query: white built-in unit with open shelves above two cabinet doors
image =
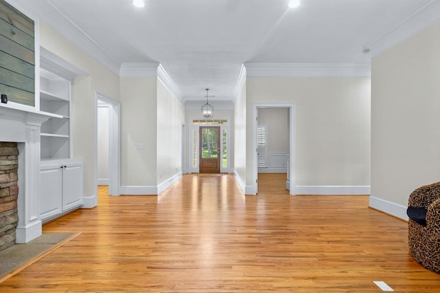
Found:
[[[48,221],[83,205],[83,160],[71,155],[73,72],[41,48],[40,110],[52,114],[41,125],[40,219]],[[73,65],[69,65],[72,67]]]

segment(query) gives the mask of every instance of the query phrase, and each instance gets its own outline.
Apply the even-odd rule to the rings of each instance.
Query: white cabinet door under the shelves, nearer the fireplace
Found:
[[[61,213],[62,178],[61,165],[45,166],[40,170],[40,219]]]

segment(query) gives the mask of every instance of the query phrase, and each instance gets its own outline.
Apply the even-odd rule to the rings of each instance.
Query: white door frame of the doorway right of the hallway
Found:
[[[259,108],[272,108],[272,109],[289,109],[289,171],[290,171],[290,182],[289,182],[289,193],[290,195],[295,195],[296,191],[296,173],[295,173],[295,166],[296,166],[296,158],[295,158],[295,142],[296,142],[296,107],[295,103],[275,103],[275,104],[269,104],[269,103],[256,103],[254,104],[254,125],[252,127],[252,149],[253,155],[252,155],[252,189],[254,191],[253,194],[257,194],[259,190],[258,185],[258,144],[256,142],[256,131],[259,125],[258,122],[258,113]]]

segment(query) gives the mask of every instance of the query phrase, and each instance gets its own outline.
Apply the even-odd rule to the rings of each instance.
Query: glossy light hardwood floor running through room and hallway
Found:
[[[107,196],[43,226],[81,232],[0,283],[0,292],[439,292],[408,253],[407,224],[366,196],[290,196],[259,175],[184,175],[159,196]]]

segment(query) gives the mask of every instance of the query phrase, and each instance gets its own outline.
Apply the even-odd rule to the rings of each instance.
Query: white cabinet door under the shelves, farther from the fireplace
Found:
[[[83,204],[83,166],[64,165],[63,211]]]

